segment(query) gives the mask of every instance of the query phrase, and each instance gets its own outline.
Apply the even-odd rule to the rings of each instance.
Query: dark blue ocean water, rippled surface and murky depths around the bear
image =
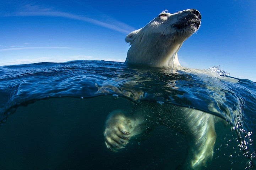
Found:
[[[164,126],[119,152],[104,144],[108,114],[142,103],[221,118],[213,158],[203,169],[255,169],[255,82],[218,67],[174,70],[88,60],[0,67],[0,169],[174,170],[185,158],[186,140]]]

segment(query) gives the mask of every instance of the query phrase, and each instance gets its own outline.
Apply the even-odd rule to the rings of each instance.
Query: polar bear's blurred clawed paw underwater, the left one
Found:
[[[134,120],[126,117],[121,111],[110,114],[104,130],[105,144],[111,151],[117,151],[129,143],[134,136]]]

